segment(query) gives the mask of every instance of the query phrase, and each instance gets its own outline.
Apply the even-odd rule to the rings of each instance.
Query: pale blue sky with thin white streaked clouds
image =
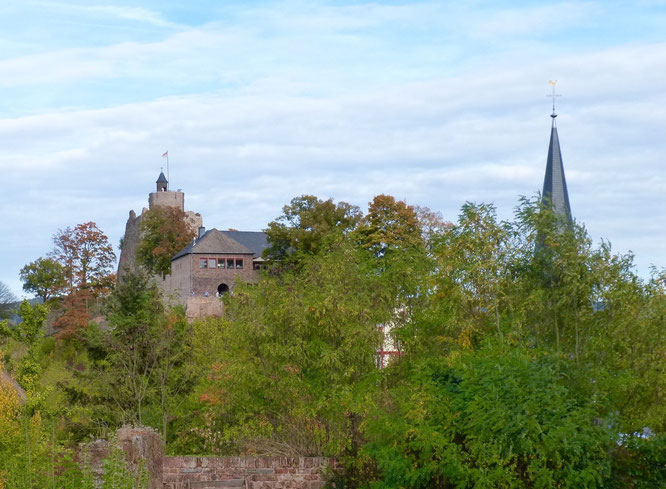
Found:
[[[169,153],[207,228],[312,194],[511,219],[543,185],[557,80],[572,212],[666,267],[666,2],[0,4],[0,281],[94,221],[116,247]],[[119,253],[118,253],[119,254]]]

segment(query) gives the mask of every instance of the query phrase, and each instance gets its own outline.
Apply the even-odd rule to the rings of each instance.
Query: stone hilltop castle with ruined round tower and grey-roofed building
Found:
[[[185,221],[197,237],[171,259],[171,273],[154,276],[165,300],[185,306],[190,318],[222,314],[218,297],[231,291],[237,280],[255,282],[264,261],[262,253],[268,247],[266,235],[256,231],[220,231],[203,227],[201,214],[185,211],[185,194],[169,190],[163,172],[157,179],[156,190],[148,196],[148,209],[172,207],[185,214]],[[125,225],[118,263],[118,280],[136,272],[136,251],[141,241],[139,216],[132,210]]]

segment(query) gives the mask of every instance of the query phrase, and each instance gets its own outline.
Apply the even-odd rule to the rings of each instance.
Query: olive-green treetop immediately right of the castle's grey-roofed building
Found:
[[[315,254],[329,249],[336,240],[349,233],[361,218],[358,207],[333,199],[320,200],[303,195],[282,208],[282,215],[265,230],[270,247],[264,256],[270,260]]]

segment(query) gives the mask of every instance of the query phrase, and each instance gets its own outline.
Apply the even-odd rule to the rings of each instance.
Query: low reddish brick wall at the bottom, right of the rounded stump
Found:
[[[323,457],[164,457],[164,489],[321,489],[334,459]]]

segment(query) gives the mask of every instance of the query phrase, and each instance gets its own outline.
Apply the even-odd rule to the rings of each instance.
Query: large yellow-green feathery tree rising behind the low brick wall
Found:
[[[358,444],[392,297],[350,240],[297,270],[239,285],[225,318],[195,326],[209,370],[199,398],[222,433],[209,451],[336,455]],[[212,331],[211,331],[212,330]],[[203,338],[198,338],[203,334]]]

